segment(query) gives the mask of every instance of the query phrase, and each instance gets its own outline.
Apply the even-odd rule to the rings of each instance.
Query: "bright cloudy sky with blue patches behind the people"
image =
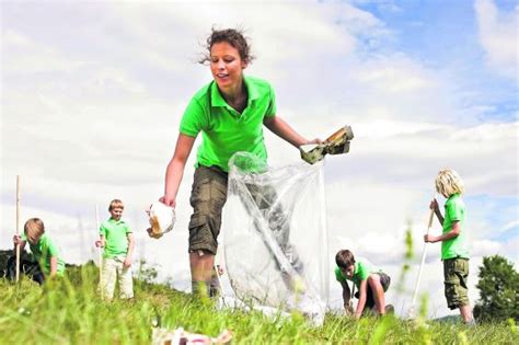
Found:
[[[215,24],[246,30],[257,58],[245,72],[274,85],[279,116],[302,135],[354,128],[350,153],[324,168],[332,254],[349,248],[396,276],[407,223],[420,238],[434,179],[448,166],[466,184],[471,298],[483,255],[518,263],[515,1],[3,1],[1,10],[2,248],[20,174],[22,218],[43,218],[67,261],[95,256],[95,205],[120,197],[137,254],[186,288],[194,154],[175,232],[147,239],[142,210],[162,193],[185,105],[210,81],[195,60]],[[272,134],[266,142],[273,166],[299,162]],[[449,313],[438,256],[431,246],[431,317]]]

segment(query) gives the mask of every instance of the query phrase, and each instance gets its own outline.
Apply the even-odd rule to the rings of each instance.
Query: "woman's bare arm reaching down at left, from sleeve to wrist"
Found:
[[[189,137],[183,134],[178,134],[176,139],[175,152],[173,158],[168,164],[165,171],[165,188],[164,196],[161,197],[161,202],[165,205],[175,207],[176,194],[178,193],[178,186],[181,185],[182,177],[184,176],[184,168],[189,158],[191,150],[195,143],[196,138]]]

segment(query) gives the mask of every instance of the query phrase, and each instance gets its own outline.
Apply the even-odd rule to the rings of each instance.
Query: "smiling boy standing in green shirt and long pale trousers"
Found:
[[[135,240],[129,226],[120,219],[124,205],[119,199],[109,203],[111,218],[100,227],[100,239],[96,246],[104,248],[101,289],[103,297],[112,300],[115,290],[115,280],[118,277],[120,297],[134,298],[134,280],[131,277],[131,255]]]

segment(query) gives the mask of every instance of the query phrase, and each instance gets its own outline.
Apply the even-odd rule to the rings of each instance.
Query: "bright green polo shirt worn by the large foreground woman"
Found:
[[[217,165],[229,171],[229,159],[245,151],[266,161],[263,119],[276,115],[276,100],[270,84],[244,77],[247,105],[240,114],[222,97],[216,82],[201,88],[191,100],[182,117],[180,131],[196,137],[201,131],[196,166]]]

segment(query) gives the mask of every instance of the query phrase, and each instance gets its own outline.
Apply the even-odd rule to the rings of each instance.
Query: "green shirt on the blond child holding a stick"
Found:
[[[453,257],[470,258],[469,241],[465,230],[465,204],[459,194],[451,195],[445,205],[443,233],[452,230],[452,223],[459,221],[461,232],[458,237],[441,242],[441,260]]]

